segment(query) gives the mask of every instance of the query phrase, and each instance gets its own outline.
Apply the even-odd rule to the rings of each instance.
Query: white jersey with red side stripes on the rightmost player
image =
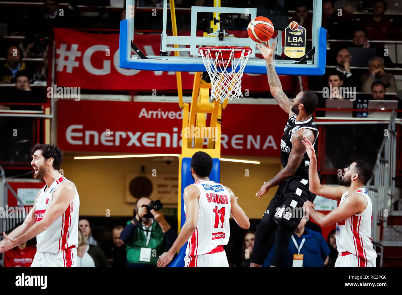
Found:
[[[364,187],[358,189],[355,193],[360,193],[366,197],[367,207],[363,213],[355,214],[336,223],[336,248],[338,252],[350,252],[358,256],[359,266],[366,267],[367,261],[372,261],[377,257],[371,243],[371,199]],[[340,199],[339,205],[342,204],[347,196],[348,192],[345,192]]]

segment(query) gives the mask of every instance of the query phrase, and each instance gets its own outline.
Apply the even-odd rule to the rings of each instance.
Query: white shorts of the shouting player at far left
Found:
[[[77,267],[77,249],[56,253],[36,252],[31,267]]]

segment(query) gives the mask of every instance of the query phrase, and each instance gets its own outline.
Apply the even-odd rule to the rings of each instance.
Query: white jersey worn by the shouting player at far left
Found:
[[[53,193],[57,190],[60,183],[70,182],[60,175],[55,179],[50,187],[46,185],[41,189],[35,204],[35,222],[42,220],[43,215],[53,200]],[[74,185],[74,183],[72,183]],[[74,185],[75,187],[75,185]],[[80,197],[77,188],[76,195],[66,209],[66,211],[53,222],[47,230],[36,236],[37,251],[57,253],[68,248],[76,248],[78,246],[78,211],[80,209]]]

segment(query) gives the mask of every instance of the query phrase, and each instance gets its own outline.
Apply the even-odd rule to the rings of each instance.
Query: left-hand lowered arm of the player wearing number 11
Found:
[[[166,267],[172,260],[174,254],[189,240],[198,222],[198,200],[200,197],[200,190],[196,185],[189,185],[184,189],[183,199],[186,203],[186,221],[178,234],[176,241],[168,252],[164,252],[157,262],[158,267]]]

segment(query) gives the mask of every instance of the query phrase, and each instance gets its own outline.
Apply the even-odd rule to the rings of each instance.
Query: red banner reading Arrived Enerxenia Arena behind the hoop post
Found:
[[[64,151],[181,153],[176,103],[58,101],[57,145]],[[222,155],[279,156],[287,114],[278,105],[229,104]]]

